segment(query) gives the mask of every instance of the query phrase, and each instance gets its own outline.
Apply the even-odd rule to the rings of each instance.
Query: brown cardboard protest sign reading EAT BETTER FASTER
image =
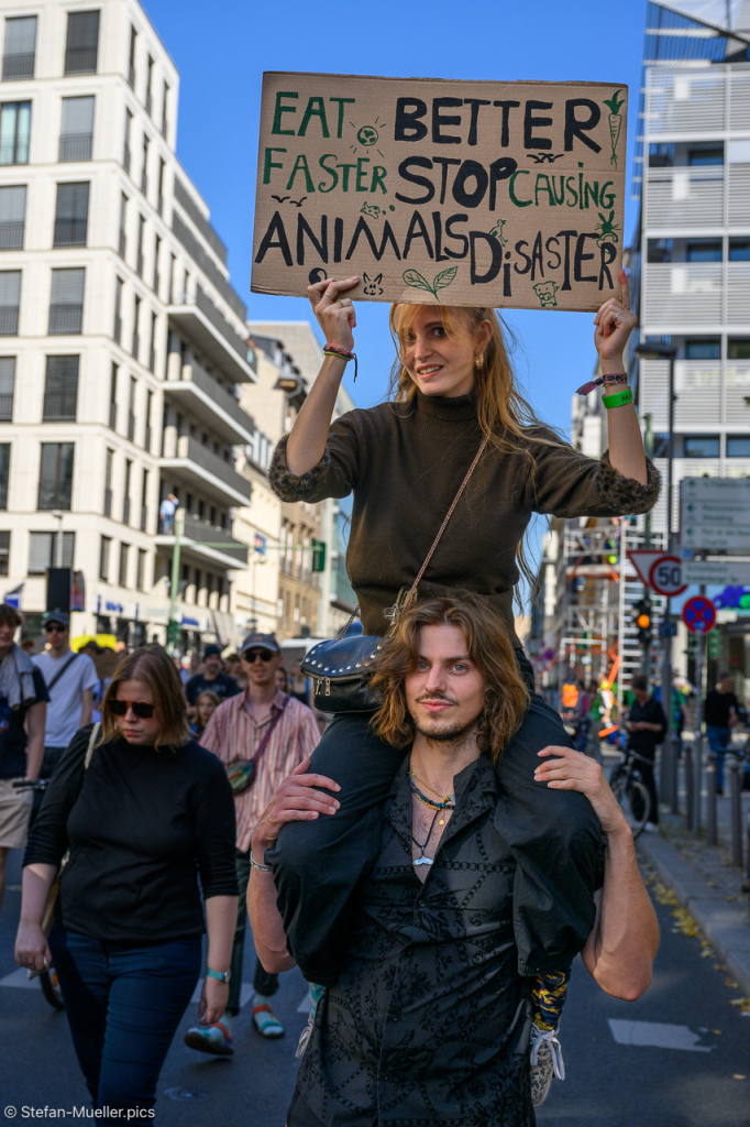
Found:
[[[619,295],[627,88],[264,76],[252,290],[595,310]]]

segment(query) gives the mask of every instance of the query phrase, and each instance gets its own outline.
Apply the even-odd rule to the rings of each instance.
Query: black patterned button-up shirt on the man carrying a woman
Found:
[[[298,1092],[324,1127],[532,1127],[532,982],[518,974],[516,863],[482,755],[422,884],[402,764],[355,894],[343,970],[321,1000]]]

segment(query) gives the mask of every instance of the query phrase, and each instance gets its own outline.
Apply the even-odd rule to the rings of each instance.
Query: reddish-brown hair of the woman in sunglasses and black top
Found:
[[[155,751],[161,744],[176,748],[189,743],[187,702],[175,663],[161,646],[141,646],[123,658],[107,686],[101,704],[99,745],[119,738],[117,719],[113,716],[109,701],[117,700],[117,690],[123,681],[143,681],[153,694],[154,704],[159,704],[161,731],[154,744]]]

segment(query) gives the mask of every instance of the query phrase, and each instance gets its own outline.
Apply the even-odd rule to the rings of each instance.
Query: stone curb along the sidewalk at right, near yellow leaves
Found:
[[[727,904],[721,890],[712,888],[705,877],[661,834],[641,834],[636,848],[654,867],[662,884],[675,894],[680,907],[690,913],[742,994],[750,996],[750,924],[747,909],[741,913]]]

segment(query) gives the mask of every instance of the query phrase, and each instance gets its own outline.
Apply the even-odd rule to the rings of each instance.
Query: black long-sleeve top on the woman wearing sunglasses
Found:
[[[181,747],[102,744],[84,770],[90,727],[55,771],[24,864],[59,866],[56,904],[73,932],[106,942],[161,942],[205,931],[206,898],[236,896],[234,800],[224,767]]]

